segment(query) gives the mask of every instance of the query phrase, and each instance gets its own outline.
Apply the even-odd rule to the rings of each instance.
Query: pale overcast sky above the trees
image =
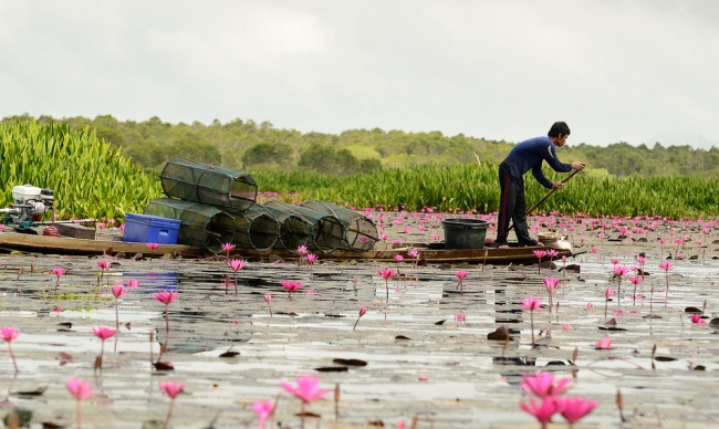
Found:
[[[0,116],[719,146],[719,1],[0,2]]]

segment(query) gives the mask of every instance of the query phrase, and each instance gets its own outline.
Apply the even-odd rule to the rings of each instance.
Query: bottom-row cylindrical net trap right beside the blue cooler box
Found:
[[[181,223],[177,242],[180,244],[200,245],[212,253],[219,253],[223,243],[235,240],[232,217],[211,206],[159,198],[147,205],[145,214],[179,219]]]

